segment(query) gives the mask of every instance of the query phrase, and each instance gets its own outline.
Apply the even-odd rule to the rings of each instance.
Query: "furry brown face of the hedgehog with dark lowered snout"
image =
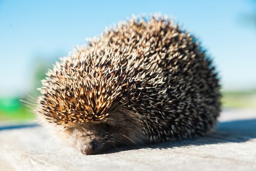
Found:
[[[129,114],[115,113],[102,122],[71,124],[65,131],[83,154],[97,154],[123,145],[137,145],[144,137],[141,125]]]

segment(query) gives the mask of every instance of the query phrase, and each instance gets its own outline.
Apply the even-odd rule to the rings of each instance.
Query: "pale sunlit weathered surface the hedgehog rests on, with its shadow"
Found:
[[[86,156],[43,127],[0,130],[0,171],[256,171],[256,111],[225,110],[207,137]]]

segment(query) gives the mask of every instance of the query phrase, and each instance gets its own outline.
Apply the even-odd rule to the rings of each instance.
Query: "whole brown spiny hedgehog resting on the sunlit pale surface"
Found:
[[[205,135],[220,113],[211,60],[159,16],[120,22],[57,62],[42,85],[39,116],[84,154]]]

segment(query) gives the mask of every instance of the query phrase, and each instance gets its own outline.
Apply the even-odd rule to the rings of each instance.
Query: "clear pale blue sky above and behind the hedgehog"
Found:
[[[0,96],[32,87],[37,56],[65,56],[132,14],[173,16],[208,49],[224,89],[256,87],[256,29],[240,21],[250,0],[0,0]]]

